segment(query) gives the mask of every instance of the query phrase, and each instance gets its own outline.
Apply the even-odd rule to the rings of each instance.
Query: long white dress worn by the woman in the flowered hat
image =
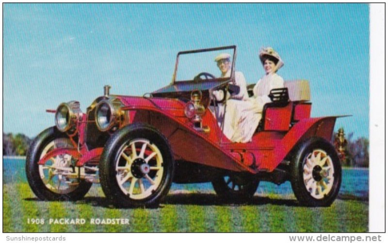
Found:
[[[251,141],[266,103],[271,103],[268,94],[272,89],[284,88],[284,80],[281,76],[268,74],[259,79],[253,88],[253,96],[247,101],[228,100],[226,102],[225,119],[229,122],[228,137],[232,142],[246,143]],[[224,130],[225,131],[225,130]]]

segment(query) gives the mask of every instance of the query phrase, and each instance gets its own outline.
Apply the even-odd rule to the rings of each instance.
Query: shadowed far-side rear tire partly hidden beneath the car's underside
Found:
[[[240,190],[233,190],[228,186],[230,182],[226,183],[225,177],[226,176],[218,176],[211,184],[213,185],[216,194],[227,203],[245,203],[249,201],[252,199],[259,186],[259,180],[251,175],[230,174],[227,175],[230,182],[242,187]]]

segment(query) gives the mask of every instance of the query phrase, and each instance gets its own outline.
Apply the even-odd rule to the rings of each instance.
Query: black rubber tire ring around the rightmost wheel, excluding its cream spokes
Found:
[[[303,167],[308,154],[316,149],[323,150],[330,156],[334,167],[334,182],[331,190],[322,199],[314,198],[307,191],[303,181]],[[320,137],[311,137],[301,142],[291,160],[291,186],[299,203],[308,207],[328,207],[336,199],[341,185],[341,164],[336,149]]]

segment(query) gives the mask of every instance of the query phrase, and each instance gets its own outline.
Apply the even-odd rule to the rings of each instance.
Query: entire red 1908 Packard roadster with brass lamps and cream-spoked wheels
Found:
[[[220,52],[232,57],[230,77],[215,77]],[[172,182],[211,182],[226,201],[242,202],[259,181],[291,181],[301,205],[331,205],[341,183],[330,143],[338,117],[311,118],[308,82],[286,81],[271,92],[252,141],[231,142],[212,112],[226,101],[215,102],[211,92],[233,88],[235,62],[236,46],[179,52],[162,89],[135,97],[105,86],[85,113],[77,101],[48,110],[56,126],[40,133],[27,155],[32,191],[42,200],[78,200],[101,183],[117,207],[154,207]]]

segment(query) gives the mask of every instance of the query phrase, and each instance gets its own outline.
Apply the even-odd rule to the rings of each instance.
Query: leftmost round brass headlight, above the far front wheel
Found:
[[[55,124],[59,131],[66,132],[76,127],[78,113],[81,113],[80,103],[70,101],[58,106],[55,113]]]

